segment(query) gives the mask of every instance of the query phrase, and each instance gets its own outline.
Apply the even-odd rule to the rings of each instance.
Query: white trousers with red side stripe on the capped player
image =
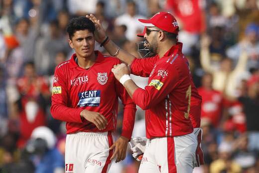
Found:
[[[138,173],[192,173],[196,148],[194,132],[148,140]]]

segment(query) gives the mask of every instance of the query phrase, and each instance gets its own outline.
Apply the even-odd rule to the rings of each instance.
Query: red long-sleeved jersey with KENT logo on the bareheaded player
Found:
[[[75,132],[115,131],[118,114],[118,97],[124,104],[122,136],[130,139],[135,120],[135,104],[111,69],[120,60],[95,51],[95,64],[84,69],[75,62],[76,54],[55,69],[52,90],[51,114],[66,121],[67,134]],[[106,129],[100,131],[91,122],[81,119],[83,109],[99,112],[108,120]]]

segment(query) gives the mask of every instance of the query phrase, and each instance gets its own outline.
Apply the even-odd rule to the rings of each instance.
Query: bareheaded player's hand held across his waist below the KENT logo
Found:
[[[108,124],[107,119],[99,112],[83,110],[80,115],[87,121],[94,123],[99,130],[104,130]]]

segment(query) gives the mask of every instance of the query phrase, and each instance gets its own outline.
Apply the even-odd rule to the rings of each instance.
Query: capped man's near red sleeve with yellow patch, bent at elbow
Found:
[[[156,65],[149,77],[148,86],[136,89],[132,99],[141,109],[147,110],[164,99],[179,81],[178,72],[172,64]]]

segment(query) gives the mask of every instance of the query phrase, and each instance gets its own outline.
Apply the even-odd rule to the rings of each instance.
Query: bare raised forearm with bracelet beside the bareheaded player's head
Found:
[[[119,49],[119,46],[117,46],[112,40],[105,44],[104,47],[112,56],[116,56],[127,65],[130,65],[135,59],[133,55],[127,53],[125,50],[121,48]]]

